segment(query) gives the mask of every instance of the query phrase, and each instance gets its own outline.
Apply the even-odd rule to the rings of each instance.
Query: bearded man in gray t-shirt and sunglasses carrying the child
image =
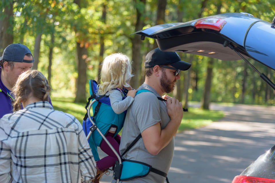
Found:
[[[146,55],[145,82],[137,89],[138,94],[127,110],[119,151],[123,159],[146,163],[152,168],[147,175],[133,175],[135,178],[125,182],[165,181],[174,154],[174,135],[183,111],[181,102],[167,96],[164,97],[167,101],[163,101],[161,96],[173,91],[180,71],[190,66],[181,61],[176,52],[162,52],[157,48]],[[138,139],[139,134],[142,139]],[[132,142],[135,143],[129,148]],[[122,180],[123,171],[128,169],[131,167],[123,165]]]

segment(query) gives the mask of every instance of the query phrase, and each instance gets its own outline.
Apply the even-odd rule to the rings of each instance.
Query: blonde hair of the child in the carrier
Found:
[[[128,82],[132,75],[132,62],[122,53],[113,53],[101,64],[101,84],[98,85],[98,94],[104,95],[114,88],[129,87]]]

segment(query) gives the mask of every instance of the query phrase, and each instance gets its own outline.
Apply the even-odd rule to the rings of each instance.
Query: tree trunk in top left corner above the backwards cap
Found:
[[[10,1],[1,11],[0,16],[5,17],[0,21],[0,55],[3,55],[4,49],[13,43],[13,3]]]

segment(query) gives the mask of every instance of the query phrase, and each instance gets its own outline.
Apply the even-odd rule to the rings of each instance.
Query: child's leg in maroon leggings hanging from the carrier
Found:
[[[106,135],[106,138],[111,143],[111,145],[116,150],[116,152],[119,154],[119,144],[115,140],[113,135],[114,135],[113,133],[108,132]],[[105,142],[105,140],[102,141],[100,148],[101,148],[101,150],[103,150],[103,152],[105,152],[109,156],[106,156],[106,157],[102,158],[101,160],[98,160],[97,168],[99,168],[99,170],[104,170],[106,168],[110,168],[110,167],[114,166],[115,161],[117,160],[117,156],[111,150],[111,148],[108,146],[108,144]],[[120,154],[119,154],[119,156],[120,156]]]

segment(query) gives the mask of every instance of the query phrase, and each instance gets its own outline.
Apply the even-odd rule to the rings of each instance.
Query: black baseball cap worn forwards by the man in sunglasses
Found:
[[[145,68],[154,67],[155,65],[170,64],[176,69],[186,71],[191,64],[180,59],[176,52],[160,51],[159,48],[150,51],[145,58]]]

